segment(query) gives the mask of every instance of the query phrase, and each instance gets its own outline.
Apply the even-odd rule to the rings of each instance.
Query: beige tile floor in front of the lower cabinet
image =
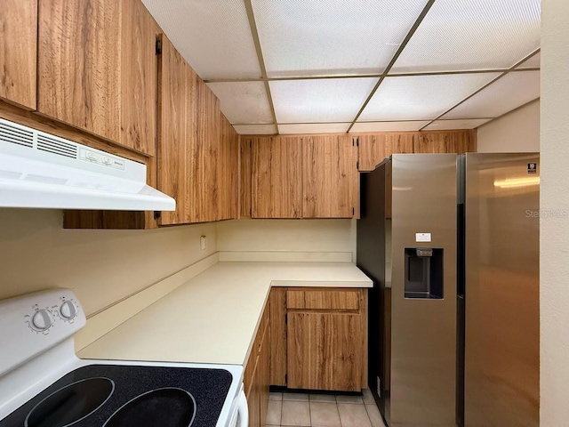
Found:
[[[363,396],[271,392],[267,427],[384,427],[372,393]]]

